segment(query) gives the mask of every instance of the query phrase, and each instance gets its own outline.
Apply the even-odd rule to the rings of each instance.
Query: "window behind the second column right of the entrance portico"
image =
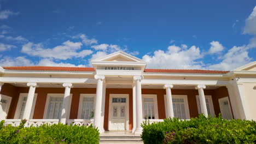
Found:
[[[205,95],[205,101],[206,101],[206,107],[207,107],[207,113],[208,115],[211,115],[214,117],[214,108],[213,108],[213,103],[212,103],[212,95]],[[199,100],[199,95],[196,95],[196,103],[197,103],[197,110],[198,113],[201,114],[201,104]]]

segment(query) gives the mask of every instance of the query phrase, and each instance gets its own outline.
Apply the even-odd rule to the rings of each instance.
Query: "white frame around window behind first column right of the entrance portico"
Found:
[[[167,117],[167,98],[166,94],[164,95],[165,99],[165,116]],[[189,113],[189,105],[188,105],[188,95],[172,95],[173,99],[183,99],[184,100],[184,109],[185,109],[185,116],[186,119],[190,119]]]

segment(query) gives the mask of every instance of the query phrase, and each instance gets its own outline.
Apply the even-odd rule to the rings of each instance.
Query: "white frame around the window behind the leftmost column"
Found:
[[[21,112],[21,106],[22,106],[22,100],[24,99],[24,97],[27,97],[27,96],[28,96],[28,93],[20,93],[18,104],[17,104],[16,111],[15,111],[15,115],[14,115],[14,119],[19,119],[19,115]],[[30,113],[30,119],[33,119],[34,107],[36,106],[36,101],[37,101],[37,93],[34,94],[32,109],[31,109],[31,113]],[[26,102],[26,104],[27,104],[27,102]]]

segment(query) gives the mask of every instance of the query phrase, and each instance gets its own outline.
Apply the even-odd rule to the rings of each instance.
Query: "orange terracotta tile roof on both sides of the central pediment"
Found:
[[[95,71],[94,68],[81,67],[43,67],[43,66],[29,66],[29,67],[3,67],[7,70],[59,70],[59,71]],[[229,71],[220,70],[199,70],[199,69],[145,69],[148,73],[197,73],[197,74],[226,74]]]

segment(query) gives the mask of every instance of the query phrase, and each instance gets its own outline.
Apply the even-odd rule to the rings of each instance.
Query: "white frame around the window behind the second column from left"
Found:
[[[48,112],[48,107],[50,104],[51,97],[52,98],[64,98],[64,93],[48,93],[47,94],[46,103],[45,103],[45,107],[44,107],[44,119],[49,119],[49,118],[47,118],[47,112]],[[69,119],[70,110],[71,110],[72,94],[70,94],[69,98],[70,98],[70,100],[69,100],[70,103],[68,104],[69,110],[67,111],[68,119]]]

